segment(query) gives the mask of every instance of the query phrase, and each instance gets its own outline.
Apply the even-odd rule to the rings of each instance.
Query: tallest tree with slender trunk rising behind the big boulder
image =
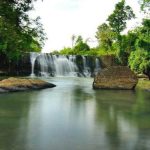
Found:
[[[123,61],[123,57],[126,56],[124,53],[124,49],[122,47],[122,36],[121,32],[126,28],[127,21],[135,18],[135,14],[130,6],[125,5],[125,0],[117,3],[115,6],[115,10],[113,13],[108,17],[109,25],[113,32],[115,32],[117,45],[118,45],[118,58],[121,64],[126,64]]]

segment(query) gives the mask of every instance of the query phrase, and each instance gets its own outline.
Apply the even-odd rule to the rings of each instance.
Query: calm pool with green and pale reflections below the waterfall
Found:
[[[93,79],[0,95],[0,150],[149,150],[150,93],[92,89]]]

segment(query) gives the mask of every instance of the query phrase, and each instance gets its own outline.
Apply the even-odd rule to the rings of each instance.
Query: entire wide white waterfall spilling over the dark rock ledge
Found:
[[[63,55],[51,55],[46,53],[31,53],[30,54],[32,69],[31,76],[34,76],[35,61],[37,61],[36,71],[40,76],[84,76],[90,77],[93,73],[96,73],[100,69],[100,61],[98,58],[95,60],[95,69],[92,73],[91,60],[82,56],[81,60],[77,60],[77,56],[63,56]],[[82,62],[82,63],[81,63]],[[79,69],[80,68],[80,69]]]

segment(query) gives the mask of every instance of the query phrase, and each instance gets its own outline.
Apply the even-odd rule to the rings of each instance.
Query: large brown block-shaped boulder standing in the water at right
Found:
[[[112,66],[101,70],[94,78],[94,89],[134,89],[138,79],[125,66]]]

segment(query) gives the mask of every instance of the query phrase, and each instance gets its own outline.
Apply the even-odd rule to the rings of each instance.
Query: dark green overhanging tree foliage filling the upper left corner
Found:
[[[28,11],[32,0],[0,1],[0,53],[16,59],[22,52],[40,51],[46,39],[40,18],[32,20]]]

